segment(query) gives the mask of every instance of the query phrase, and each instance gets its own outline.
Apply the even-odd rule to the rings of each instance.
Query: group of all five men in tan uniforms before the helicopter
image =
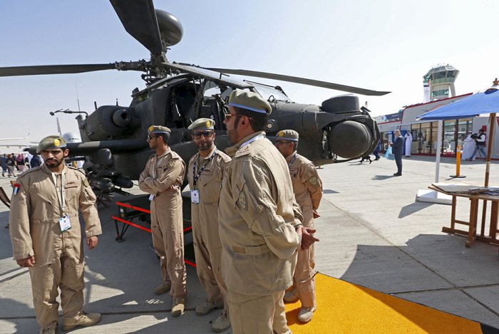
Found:
[[[291,333],[284,303],[299,300],[297,320],[312,320],[317,308],[314,282],[314,219],[322,196],[317,170],[297,153],[299,134],[282,130],[272,143],[264,127],[272,108],[260,95],[234,90],[225,114],[234,144],[215,146],[215,121],[190,125],[198,152],[186,165],[168,145],[170,129],[148,128],[152,155],[139,187],[150,194],[153,246],[160,256],[161,282],[154,293],[170,293],[172,316],[185,311],[181,187],[187,169],[196,270],[207,299],[195,313],[220,308],[212,323],[221,332]],[[45,163],[19,175],[9,216],[14,260],[29,268],[40,333],[56,333],[58,288],[63,330],[90,326],[99,313],[83,308],[83,236],[93,249],[102,233],[96,197],[84,173],[63,161],[62,137],[41,140]],[[68,243],[67,240],[72,240]]]

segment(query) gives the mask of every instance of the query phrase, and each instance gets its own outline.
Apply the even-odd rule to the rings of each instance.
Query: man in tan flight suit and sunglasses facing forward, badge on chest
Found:
[[[212,323],[212,330],[222,332],[230,327],[225,297],[227,288],[222,280],[222,244],[218,234],[218,199],[223,173],[230,157],[214,144],[215,121],[200,118],[188,129],[199,152],[189,161],[187,178],[191,193],[192,234],[196,256],[197,277],[205,289],[207,300],[196,308],[197,315],[223,308],[222,315]]]

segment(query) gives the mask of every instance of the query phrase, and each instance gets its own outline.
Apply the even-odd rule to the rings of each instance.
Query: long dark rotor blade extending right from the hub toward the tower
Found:
[[[340,85],[339,83],[328,83],[326,81],[319,81],[307,78],[299,78],[291,75],[282,75],[276,73],[267,73],[267,72],[259,72],[259,71],[249,71],[249,70],[236,70],[232,68],[206,68],[210,71],[216,71],[220,73],[226,74],[236,74],[236,75],[247,75],[257,78],[266,78],[266,79],[274,79],[281,81],[289,81],[290,83],[301,83],[303,85],[313,85],[322,88],[329,88],[334,90],[342,90],[344,92],[356,93],[361,95],[375,95],[381,96],[388,94],[390,92],[382,92],[378,90],[370,90],[364,88],[353,87],[349,85]]]

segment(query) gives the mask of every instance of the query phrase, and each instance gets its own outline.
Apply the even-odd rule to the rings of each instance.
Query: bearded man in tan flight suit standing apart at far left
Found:
[[[37,152],[45,164],[20,174],[14,184],[9,216],[14,260],[29,268],[40,333],[56,333],[58,288],[63,330],[94,325],[101,315],[81,309],[85,263],[78,209],[90,250],[102,233],[96,196],[85,174],[64,164],[69,151],[62,137],[43,138]]]

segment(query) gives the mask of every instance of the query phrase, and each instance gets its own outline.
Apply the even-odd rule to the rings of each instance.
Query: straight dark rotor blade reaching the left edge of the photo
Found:
[[[114,70],[114,63],[108,64],[76,64],[76,65],[38,65],[38,66],[14,66],[0,68],[1,76],[15,75],[41,75],[41,74],[68,74],[83,73],[103,70]]]

